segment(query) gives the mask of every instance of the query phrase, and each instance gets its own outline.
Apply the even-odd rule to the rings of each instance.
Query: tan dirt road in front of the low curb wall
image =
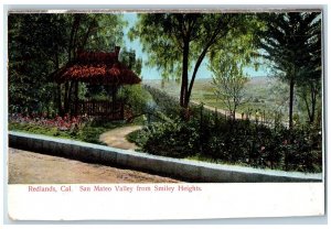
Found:
[[[177,183],[131,170],[9,149],[9,184]]]

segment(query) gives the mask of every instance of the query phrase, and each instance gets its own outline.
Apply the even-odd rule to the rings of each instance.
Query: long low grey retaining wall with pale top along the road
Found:
[[[169,159],[85,142],[12,131],[9,132],[9,146],[83,162],[134,168],[188,182],[322,182],[322,174],[266,171]]]

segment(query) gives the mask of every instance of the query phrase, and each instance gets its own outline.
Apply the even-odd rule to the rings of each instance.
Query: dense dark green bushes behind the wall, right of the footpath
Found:
[[[162,95],[158,89],[153,91]],[[168,99],[175,103],[174,98],[172,102],[171,97]],[[287,129],[277,113],[269,127],[249,120],[227,120],[202,106],[190,107],[191,118],[183,122],[180,111],[171,109],[168,102],[164,106],[161,99],[160,102],[160,108],[168,108],[163,111],[174,118],[152,122],[128,137],[143,152],[284,171],[322,170],[322,137],[318,128]]]

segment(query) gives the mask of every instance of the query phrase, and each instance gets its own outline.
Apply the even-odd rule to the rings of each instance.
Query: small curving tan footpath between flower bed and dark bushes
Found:
[[[137,145],[135,143],[128,142],[126,140],[126,135],[141,128],[141,126],[116,128],[114,130],[103,133],[99,140],[113,148],[119,148],[124,150],[136,150]]]

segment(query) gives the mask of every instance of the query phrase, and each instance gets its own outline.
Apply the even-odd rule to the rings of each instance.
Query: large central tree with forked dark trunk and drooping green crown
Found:
[[[162,77],[181,79],[180,106],[188,108],[196,73],[212,47],[234,25],[243,24],[242,14],[152,13],[139,14],[130,39],[139,37],[149,53],[149,66],[162,69]],[[189,77],[190,69],[193,69]],[[190,80],[191,79],[191,80]]]

